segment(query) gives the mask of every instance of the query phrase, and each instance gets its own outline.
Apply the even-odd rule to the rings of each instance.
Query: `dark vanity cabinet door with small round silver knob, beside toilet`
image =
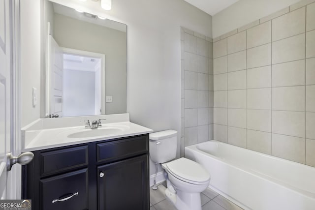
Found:
[[[98,210],[148,210],[148,155],[97,167]]]

